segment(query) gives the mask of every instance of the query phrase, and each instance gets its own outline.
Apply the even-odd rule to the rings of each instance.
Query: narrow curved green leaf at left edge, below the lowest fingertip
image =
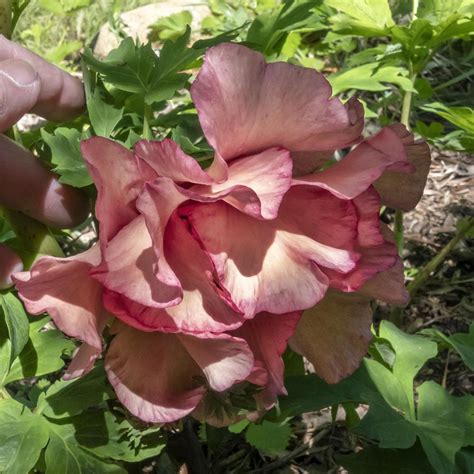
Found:
[[[3,315],[11,342],[10,366],[29,339],[28,316],[20,300],[13,293],[0,295]]]

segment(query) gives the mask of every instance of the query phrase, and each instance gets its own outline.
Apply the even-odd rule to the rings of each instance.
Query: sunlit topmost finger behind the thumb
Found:
[[[0,35],[0,61],[7,59],[30,63],[39,76],[41,91],[32,112],[48,120],[65,121],[83,111],[84,88],[79,79]]]

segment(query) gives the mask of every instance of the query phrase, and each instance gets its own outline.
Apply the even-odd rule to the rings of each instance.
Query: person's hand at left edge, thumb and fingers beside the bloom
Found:
[[[0,35],[0,132],[27,112],[63,121],[83,108],[78,79]],[[2,134],[0,170],[0,206],[58,228],[74,227],[86,218],[87,197],[59,183],[33,154]],[[0,288],[10,284],[13,269],[18,269],[18,258],[0,245]]]

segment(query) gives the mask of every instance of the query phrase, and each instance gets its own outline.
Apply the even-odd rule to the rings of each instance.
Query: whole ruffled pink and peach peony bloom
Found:
[[[326,380],[353,371],[370,299],[407,300],[381,203],[413,207],[429,167],[427,146],[403,126],[363,140],[359,102],[243,46],[211,48],[191,95],[212,165],[168,139],[133,151],[83,142],[99,243],[16,274],[28,311],[49,312],[83,342],[68,377],[90,370],[113,317],[109,380],[149,422],[177,420],[240,382],[261,387],[258,406],[271,407],[285,393],[290,338]]]

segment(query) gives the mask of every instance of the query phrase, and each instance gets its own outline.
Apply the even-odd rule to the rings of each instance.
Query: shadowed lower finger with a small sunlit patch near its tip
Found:
[[[89,213],[87,196],[61,184],[30,152],[0,135],[0,205],[57,228],[75,227]]]

